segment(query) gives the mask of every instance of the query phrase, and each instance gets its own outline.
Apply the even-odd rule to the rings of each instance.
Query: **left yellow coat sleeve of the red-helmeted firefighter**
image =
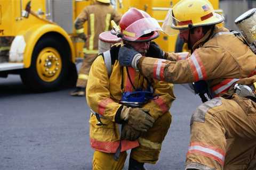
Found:
[[[98,56],[91,66],[86,86],[86,100],[89,107],[96,113],[115,121],[119,107],[118,101],[110,98],[109,78],[102,56]]]

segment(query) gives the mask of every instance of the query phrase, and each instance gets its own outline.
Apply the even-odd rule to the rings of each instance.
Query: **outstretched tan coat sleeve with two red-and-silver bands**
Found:
[[[231,76],[237,64],[221,47],[198,48],[186,60],[169,61],[142,57],[138,67],[146,77],[171,83],[190,83]],[[228,64],[228,65],[227,65]]]

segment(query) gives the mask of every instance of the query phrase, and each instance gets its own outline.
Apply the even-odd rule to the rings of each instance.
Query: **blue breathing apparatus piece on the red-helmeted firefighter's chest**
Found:
[[[143,104],[146,104],[149,99],[153,98],[153,93],[150,91],[126,91],[123,93],[119,103],[129,107],[141,107]]]

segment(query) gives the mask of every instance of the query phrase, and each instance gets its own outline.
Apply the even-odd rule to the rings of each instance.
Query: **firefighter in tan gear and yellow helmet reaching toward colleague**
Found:
[[[195,82],[204,103],[191,117],[185,169],[256,167],[256,55],[239,33],[215,25],[222,21],[209,1],[182,0],[167,14],[162,28],[170,35],[178,31],[191,55],[155,48],[163,57],[157,59],[131,48],[119,49],[119,64],[132,66],[147,78]],[[239,87],[245,86],[253,93],[239,96]]]

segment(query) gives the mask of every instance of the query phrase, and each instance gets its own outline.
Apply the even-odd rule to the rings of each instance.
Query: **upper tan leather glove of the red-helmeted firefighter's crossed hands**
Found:
[[[124,120],[135,130],[147,132],[155,122],[154,118],[148,114],[148,109],[131,108],[124,106],[120,114],[121,120]]]

